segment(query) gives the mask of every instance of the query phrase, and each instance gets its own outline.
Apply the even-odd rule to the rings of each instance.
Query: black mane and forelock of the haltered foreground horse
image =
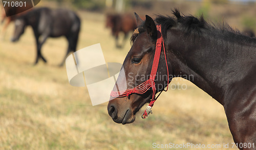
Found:
[[[176,27],[182,30],[185,37],[191,34],[197,34],[201,36],[203,33],[215,35],[219,33],[219,35],[226,35],[228,37],[243,36],[239,30],[233,29],[224,22],[218,24],[212,23],[212,25],[208,24],[205,21],[203,14],[198,18],[193,15],[184,16],[183,14],[181,15],[178,9],[173,10],[173,14],[174,16],[156,15],[157,17],[155,22],[162,26],[162,34],[164,38],[166,38],[167,30],[172,27]],[[138,27],[138,31],[139,34],[145,32],[143,25]],[[131,42],[133,42],[137,36],[138,34],[134,33],[131,37]]]

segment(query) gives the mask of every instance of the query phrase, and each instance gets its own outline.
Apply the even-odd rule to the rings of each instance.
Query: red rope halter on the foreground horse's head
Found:
[[[154,56],[154,60],[153,60],[153,66],[152,66],[152,70],[151,70],[151,74],[150,74],[150,79],[139,84],[137,87],[135,87],[133,89],[126,89],[126,90],[122,90],[122,91],[112,91],[110,94],[110,96],[112,96],[112,97],[125,97],[125,96],[129,96],[133,93],[143,94],[147,90],[152,88],[152,91],[153,91],[152,100],[151,100],[150,104],[148,104],[147,109],[144,111],[144,113],[141,116],[143,119],[147,118],[147,115],[152,113],[151,108],[154,105],[154,102],[157,100],[158,96],[162,93],[162,91],[161,91],[161,93],[156,97],[155,78],[156,78],[158,63],[159,63],[159,59],[160,59],[160,55],[161,55],[162,44],[163,44],[164,57],[165,57],[165,63],[166,63],[166,68],[167,68],[167,75],[168,75],[167,83],[169,83],[169,72],[168,72],[166,52],[165,52],[165,47],[164,47],[164,42],[163,42],[163,37],[162,37],[162,32],[161,32],[161,25],[157,25],[157,30],[159,32],[157,33],[158,39],[157,39],[156,52],[155,52],[155,56]],[[168,86],[167,86],[167,89],[164,91],[167,91],[167,90],[168,90]],[[120,93],[122,93],[122,94],[120,94]]]

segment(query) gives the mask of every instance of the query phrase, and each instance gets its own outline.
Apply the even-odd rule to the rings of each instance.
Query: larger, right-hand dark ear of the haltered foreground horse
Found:
[[[146,15],[144,29],[146,29],[146,32],[147,32],[148,36],[150,36],[151,38],[154,38],[154,39],[157,38],[156,24],[155,24],[154,20],[148,15]]]

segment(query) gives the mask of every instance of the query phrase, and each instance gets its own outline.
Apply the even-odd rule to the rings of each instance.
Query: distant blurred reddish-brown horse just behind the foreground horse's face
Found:
[[[116,47],[122,48],[128,33],[137,28],[136,20],[131,14],[107,14],[106,28],[111,28],[112,35],[116,39]],[[124,33],[123,44],[118,44],[119,33]]]

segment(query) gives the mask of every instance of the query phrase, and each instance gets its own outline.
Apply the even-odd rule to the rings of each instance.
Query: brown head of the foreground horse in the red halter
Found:
[[[113,89],[119,93],[126,89],[130,89],[131,92],[124,96],[111,97],[108,104],[109,115],[115,122],[122,124],[134,122],[135,114],[153,98],[153,87],[142,94],[134,93],[131,89],[150,79],[159,31],[150,16],[146,15],[145,22],[136,13],[135,16],[138,28],[131,38],[133,45],[124,59]],[[168,84],[165,57],[162,54],[158,68],[154,83],[156,93],[163,91]]]

